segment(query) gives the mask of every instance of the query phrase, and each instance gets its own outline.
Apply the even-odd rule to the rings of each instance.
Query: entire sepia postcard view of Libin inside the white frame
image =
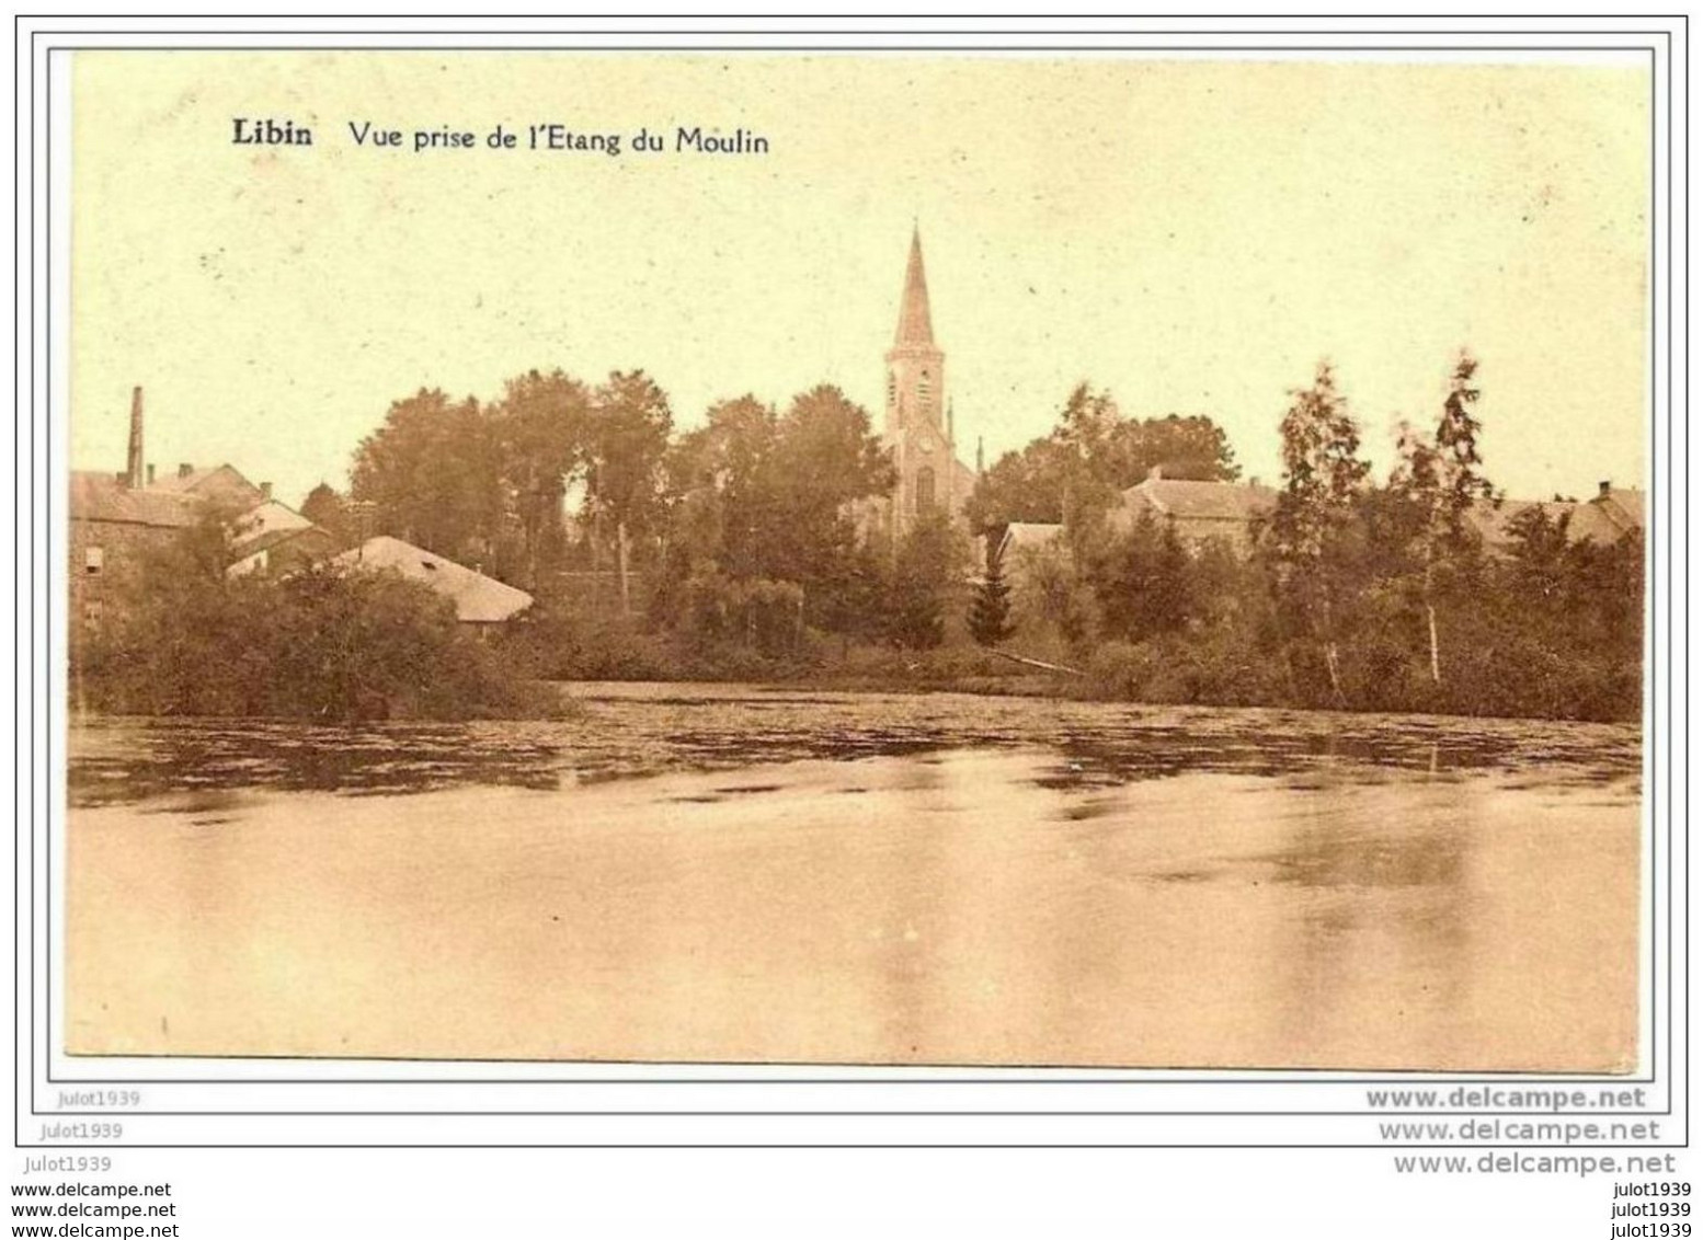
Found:
[[[56,1051],[1649,1068],[1640,61],[68,66]]]

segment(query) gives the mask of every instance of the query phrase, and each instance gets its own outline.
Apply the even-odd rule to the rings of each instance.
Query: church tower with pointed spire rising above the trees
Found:
[[[935,342],[928,312],[923,238],[913,228],[904,291],[899,295],[899,327],[887,349],[887,404],[882,421],[882,445],[892,453],[899,475],[880,514],[886,533],[894,540],[928,513],[938,511],[962,521],[964,504],[976,485],[976,470],[957,458],[945,363],[947,354]]]

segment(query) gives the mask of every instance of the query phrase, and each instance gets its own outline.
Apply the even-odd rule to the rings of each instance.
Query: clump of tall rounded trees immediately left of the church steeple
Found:
[[[596,387],[531,371],[490,402],[397,400],[356,448],[349,494],[322,484],[303,514],[535,591],[538,623],[586,623],[562,574],[606,571],[625,617],[700,644],[923,649],[943,640],[971,555],[943,513],[875,537],[892,485],[869,412],[831,385],[783,407],[720,400],[676,433],[642,371]]]

